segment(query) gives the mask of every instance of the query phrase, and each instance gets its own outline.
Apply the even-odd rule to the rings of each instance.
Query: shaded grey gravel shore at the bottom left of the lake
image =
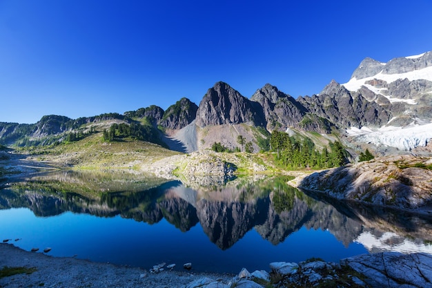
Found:
[[[12,244],[0,243],[0,269],[3,267],[35,267],[30,274],[21,273],[0,278],[0,287],[186,287],[203,277],[228,283],[231,274],[196,273],[177,265],[176,270],[149,273],[137,267],[90,262],[75,258],[52,257],[24,251]]]

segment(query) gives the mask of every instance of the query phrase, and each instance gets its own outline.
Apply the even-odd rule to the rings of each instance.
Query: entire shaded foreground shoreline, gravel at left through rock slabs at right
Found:
[[[232,274],[193,270],[146,271],[75,258],[55,258],[0,244],[0,269],[26,267],[32,273],[0,278],[0,287],[432,287],[432,256],[375,253],[340,260],[273,262],[270,272],[242,269]]]

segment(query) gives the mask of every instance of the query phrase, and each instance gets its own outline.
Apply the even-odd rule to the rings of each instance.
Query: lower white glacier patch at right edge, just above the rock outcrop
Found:
[[[432,123],[410,124],[405,127],[384,126],[381,128],[351,127],[346,130],[348,136],[355,137],[357,142],[385,145],[410,151],[418,146],[426,146],[432,139]]]

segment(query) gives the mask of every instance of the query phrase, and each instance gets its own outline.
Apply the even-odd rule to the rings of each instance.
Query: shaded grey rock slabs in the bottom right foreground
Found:
[[[271,272],[242,269],[230,284],[200,278],[198,287],[432,287],[432,256],[426,253],[375,253],[340,260],[311,259],[300,263],[272,262]]]

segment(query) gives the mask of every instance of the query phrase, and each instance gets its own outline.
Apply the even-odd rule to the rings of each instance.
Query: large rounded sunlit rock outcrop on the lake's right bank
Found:
[[[381,157],[305,177],[300,187],[340,200],[352,200],[430,213],[432,158]]]

